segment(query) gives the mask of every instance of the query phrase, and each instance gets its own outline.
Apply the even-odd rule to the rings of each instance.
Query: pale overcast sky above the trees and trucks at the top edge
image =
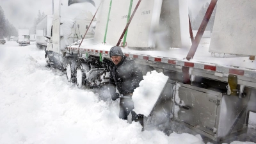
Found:
[[[55,3],[58,3],[59,0],[54,1]],[[68,0],[61,1],[63,6],[67,6]],[[97,5],[99,5],[100,0],[94,1]],[[189,8],[193,12],[193,17],[195,18],[195,15],[200,10],[202,4],[210,1],[211,0],[188,0]],[[31,26],[33,26],[35,17],[37,17],[38,10],[40,10],[41,13],[44,12],[45,14],[51,14],[51,5],[52,0],[0,0],[0,6],[4,10],[6,19],[8,19],[9,22],[16,28],[31,28]],[[58,4],[55,4],[54,7],[56,8],[57,5]],[[81,6],[81,4],[77,5]],[[90,9],[91,11],[95,12],[96,8],[94,8],[91,4],[87,4],[85,6],[87,7],[87,10]]]

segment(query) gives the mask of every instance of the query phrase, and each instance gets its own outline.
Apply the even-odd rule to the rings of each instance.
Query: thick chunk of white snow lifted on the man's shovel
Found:
[[[143,79],[140,82],[140,87],[134,90],[132,100],[134,102],[134,111],[148,116],[168,80],[168,76],[164,76],[162,72],[158,73],[154,70],[143,76]]]

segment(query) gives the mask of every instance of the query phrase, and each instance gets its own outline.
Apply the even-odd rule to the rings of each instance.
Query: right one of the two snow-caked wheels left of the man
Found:
[[[86,73],[90,70],[86,63],[79,63],[76,66],[76,84],[78,88],[86,85]]]

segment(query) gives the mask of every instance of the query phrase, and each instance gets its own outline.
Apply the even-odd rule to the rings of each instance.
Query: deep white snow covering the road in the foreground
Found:
[[[45,67],[44,51],[0,45],[0,143],[202,143],[191,134],[141,132],[118,118],[118,101],[79,90]],[[236,142],[239,143],[239,142]]]

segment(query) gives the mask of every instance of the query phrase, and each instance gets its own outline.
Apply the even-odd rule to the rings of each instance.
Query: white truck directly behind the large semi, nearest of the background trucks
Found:
[[[36,46],[40,49],[46,49],[47,42],[51,37],[52,15],[45,17],[36,25]]]

